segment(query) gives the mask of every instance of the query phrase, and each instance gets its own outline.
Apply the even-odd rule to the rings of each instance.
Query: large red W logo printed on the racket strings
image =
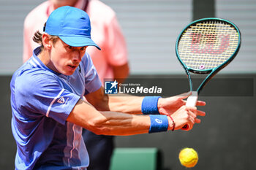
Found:
[[[191,52],[200,54],[222,54],[230,44],[229,34],[190,34]],[[219,43],[217,43],[219,42]],[[217,46],[218,45],[218,46]]]

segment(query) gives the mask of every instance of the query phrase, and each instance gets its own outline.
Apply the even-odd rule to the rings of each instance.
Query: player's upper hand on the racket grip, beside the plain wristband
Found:
[[[176,112],[180,107],[186,104],[184,99],[188,98],[192,92],[182,93],[177,96],[168,97],[168,98],[159,98],[158,101],[158,110],[160,115],[172,115]],[[206,102],[197,101],[197,106],[205,106]]]

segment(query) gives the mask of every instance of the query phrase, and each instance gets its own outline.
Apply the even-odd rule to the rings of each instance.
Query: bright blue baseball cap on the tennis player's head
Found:
[[[75,7],[59,7],[54,10],[44,28],[45,32],[59,38],[72,47],[99,46],[91,39],[89,15]]]

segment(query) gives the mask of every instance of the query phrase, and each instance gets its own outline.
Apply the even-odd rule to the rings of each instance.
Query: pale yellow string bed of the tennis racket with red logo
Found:
[[[230,24],[205,21],[184,31],[178,42],[178,53],[192,69],[213,69],[235,53],[238,41],[238,31]]]

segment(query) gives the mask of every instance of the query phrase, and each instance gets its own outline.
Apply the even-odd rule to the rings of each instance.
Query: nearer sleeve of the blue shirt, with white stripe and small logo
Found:
[[[44,72],[18,77],[15,101],[19,112],[31,118],[44,115],[64,125],[80,96],[63,87],[60,80]]]

